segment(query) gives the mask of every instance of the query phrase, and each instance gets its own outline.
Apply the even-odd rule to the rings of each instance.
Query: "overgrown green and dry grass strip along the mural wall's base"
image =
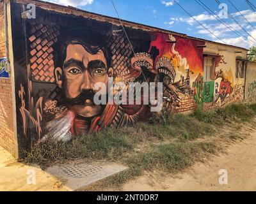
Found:
[[[143,171],[161,170],[176,173],[202,161],[218,150],[216,129],[230,122],[249,122],[256,115],[256,105],[232,104],[202,112],[175,114],[170,119],[150,120],[134,127],[105,129],[95,135],[81,135],[68,143],[47,142],[25,152],[25,163],[42,168],[76,159],[105,160],[123,163],[129,170],[102,181],[103,186],[118,186],[141,175]],[[155,121],[155,122],[154,122]],[[157,122],[156,122],[157,121]],[[240,140],[237,133],[227,134],[230,141]],[[102,186],[102,182],[100,186]]]

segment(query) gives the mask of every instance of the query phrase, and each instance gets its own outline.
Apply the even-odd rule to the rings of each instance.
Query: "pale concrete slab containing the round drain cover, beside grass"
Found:
[[[63,185],[74,191],[126,169],[122,164],[94,161],[55,165],[46,171],[57,179],[65,180]]]

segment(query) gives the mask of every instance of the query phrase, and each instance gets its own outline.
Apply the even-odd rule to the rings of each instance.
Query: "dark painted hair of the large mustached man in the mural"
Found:
[[[102,36],[88,28],[61,29],[58,41],[54,44],[54,66],[63,68],[63,62],[67,57],[68,45],[82,45],[86,52],[94,55],[102,50],[107,61],[107,67],[111,67],[111,55]]]

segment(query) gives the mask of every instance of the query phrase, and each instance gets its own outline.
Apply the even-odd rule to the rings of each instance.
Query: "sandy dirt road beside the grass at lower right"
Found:
[[[227,185],[219,184],[221,169],[227,170]],[[123,190],[256,191],[256,130],[245,140],[228,145],[225,153],[211,156],[208,163],[197,163],[175,178],[154,172],[124,184]]]

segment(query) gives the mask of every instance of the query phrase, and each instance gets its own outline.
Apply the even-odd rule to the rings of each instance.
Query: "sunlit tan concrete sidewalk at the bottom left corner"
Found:
[[[0,191],[70,191],[49,173],[17,162],[0,146]]]

